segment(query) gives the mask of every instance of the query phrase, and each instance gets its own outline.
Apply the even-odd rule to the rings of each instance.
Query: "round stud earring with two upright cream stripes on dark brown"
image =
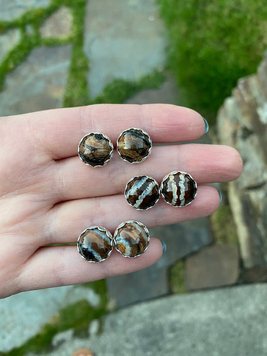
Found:
[[[160,191],[166,203],[181,207],[190,204],[195,199],[197,186],[190,174],[174,171],[163,178]]]

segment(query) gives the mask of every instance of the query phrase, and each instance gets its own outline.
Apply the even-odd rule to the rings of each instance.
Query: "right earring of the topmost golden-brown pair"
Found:
[[[141,129],[131,128],[123,131],[117,140],[117,151],[129,163],[143,162],[152,149],[149,135]]]

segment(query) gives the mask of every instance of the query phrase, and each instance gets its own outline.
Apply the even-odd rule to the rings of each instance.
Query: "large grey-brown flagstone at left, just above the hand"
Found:
[[[0,92],[0,116],[62,107],[71,50],[71,45],[33,50],[6,77]]]

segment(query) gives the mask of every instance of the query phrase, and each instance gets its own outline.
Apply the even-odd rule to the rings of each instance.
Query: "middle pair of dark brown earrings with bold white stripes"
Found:
[[[160,193],[166,203],[181,207],[190,204],[196,197],[197,185],[190,174],[173,171],[167,174],[159,187],[149,176],[135,176],[125,188],[127,202],[137,210],[152,208],[159,200]]]

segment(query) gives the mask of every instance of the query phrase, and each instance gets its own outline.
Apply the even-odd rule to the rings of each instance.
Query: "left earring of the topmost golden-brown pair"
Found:
[[[113,144],[106,135],[91,132],[80,141],[78,154],[88,166],[102,167],[113,155]]]

